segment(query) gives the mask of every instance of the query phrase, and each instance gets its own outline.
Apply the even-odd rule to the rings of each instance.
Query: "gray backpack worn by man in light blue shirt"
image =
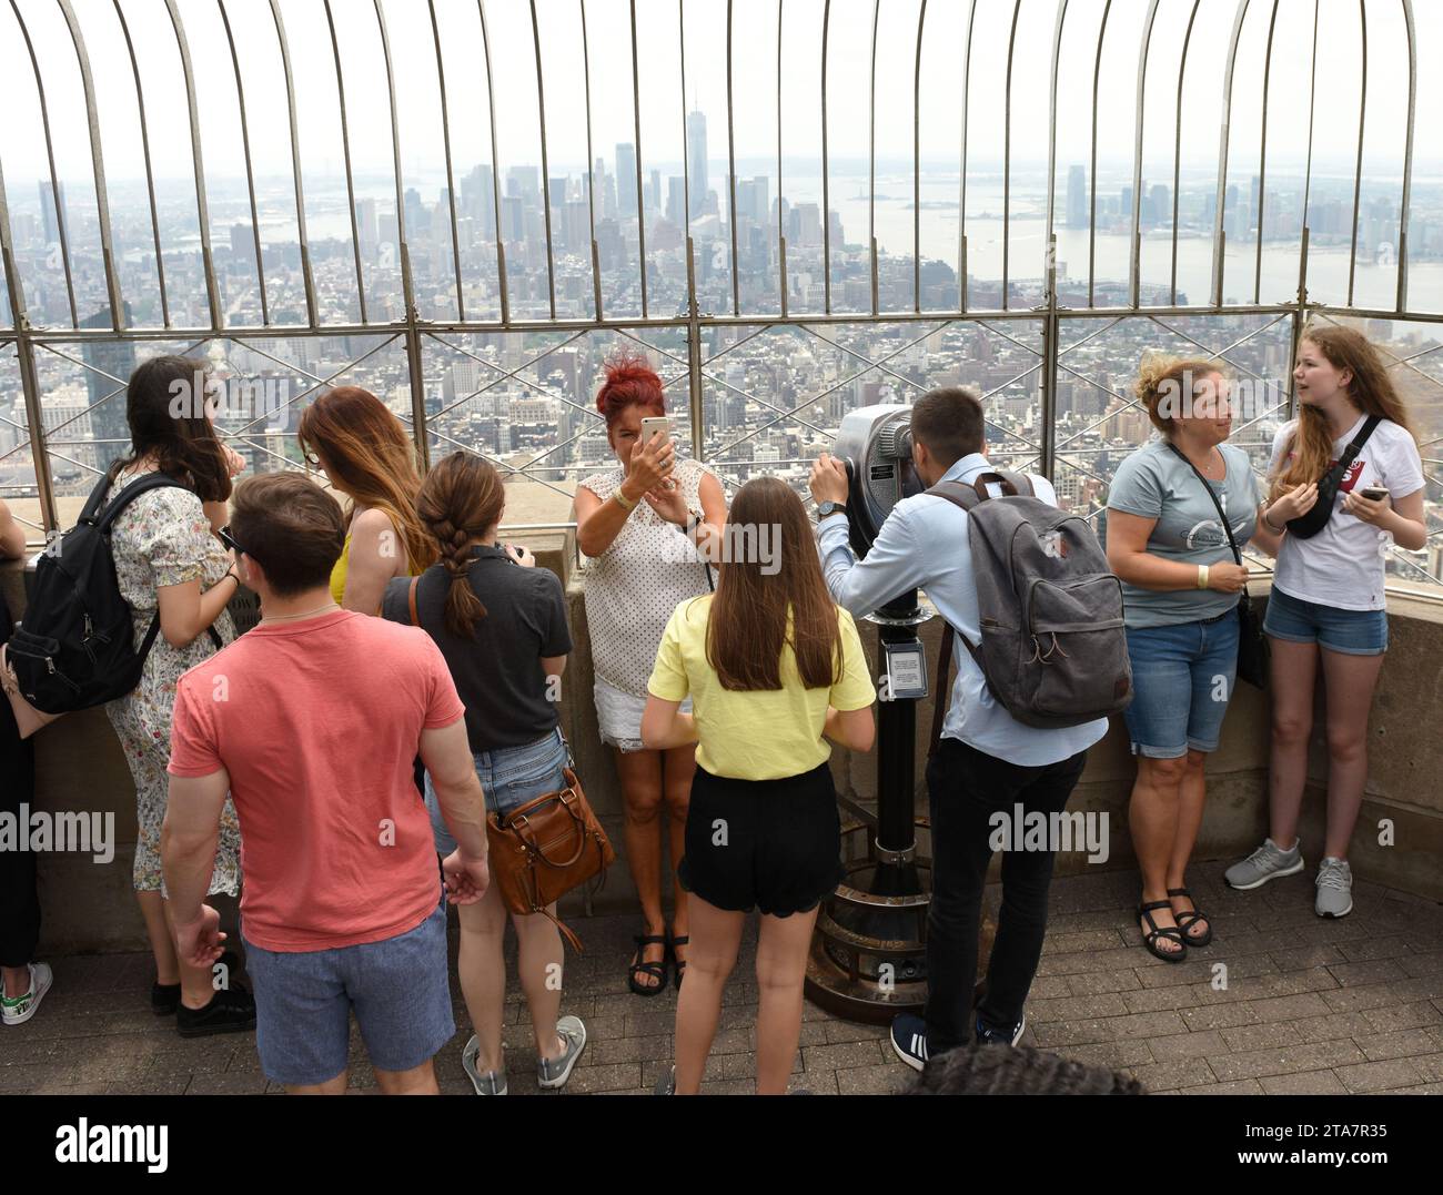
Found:
[[[988,482],[999,482],[1004,496],[991,498]],[[1123,585],[1087,521],[1049,507],[1027,478],[1006,469],[973,485],[938,482],[926,492],[968,514],[983,641],[961,638],[993,697],[1017,722],[1042,729],[1124,710],[1133,700],[1133,670]],[[941,686],[954,634],[948,626],[942,636]]]

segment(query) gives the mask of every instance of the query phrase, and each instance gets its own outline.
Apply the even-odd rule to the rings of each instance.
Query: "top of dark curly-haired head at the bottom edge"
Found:
[[[1146,1095],[1137,1080],[1032,1046],[971,1045],[928,1061],[903,1095]]]

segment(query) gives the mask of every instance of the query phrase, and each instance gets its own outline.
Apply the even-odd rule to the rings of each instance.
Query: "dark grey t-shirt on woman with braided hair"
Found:
[[[470,587],[486,608],[476,638],[446,629],[450,577],[433,564],[416,590],[416,613],[446,658],[456,691],[466,703],[466,737],[472,752],[534,743],[557,726],[558,693],[547,693],[541,657],[567,655],[571,632],[566,625],[566,595],[550,569],[524,569],[501,548],[476,546]],[[385,589],[381,613],[411,622],[410,577],[395,577]]]

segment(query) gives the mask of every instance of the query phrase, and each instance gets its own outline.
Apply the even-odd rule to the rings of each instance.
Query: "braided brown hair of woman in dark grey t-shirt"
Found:
[[[470,587],[476,557],[470,543],[501,521],[506,504],[501,475],[475,453],[453,452],[436,463],[421,482],[416,511],[440,548],[450,576],[446,590],[446,629],[463,639],[476,638],[476,623],[486,605]]]

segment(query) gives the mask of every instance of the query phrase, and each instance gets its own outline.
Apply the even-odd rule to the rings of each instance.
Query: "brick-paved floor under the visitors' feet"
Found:
[[[1232,892],[1221,872],[1193,870],[1216,940],[1182,964],[1137,944],[1136,873],[1058,880],[1023,1041],[1127,1069],[1157,1093],[1443,1093],[1443,906],[1358,883],[1355,912],[1320,921],[1307,873]],[[586,954],[567,961],[563,1012],[586,1020],[590,1041],[567,1090],[645,1094],[671,1061],[675,994],[626,992],[632,918],[579,919],[576,928]],[[709,1093],[752,1090],[753,948],[749,935],[727,987]],[[1219,963],[1225,987],[1214,973]],[[149,955],[52,966],[55,989],[35,1020],[0,1029],[0,1093],[267,1091],[254,1035],[182,1041],[173,1022],[152,1016]],[[455,1003],[463,1025],[459,993]],[[462,1028],[437,1056],[443,1093],[470,1090],[460,1068],[468,1035]],[[911,1071],[885,1035],[808,1004],[795,1085],[817,1094],[896,1090]],[[535,1094],[535,1049],[515,992],[505,1041],[512,1094]],[[354,1062],[352,1087],[374,1088],[358,1039]]]

